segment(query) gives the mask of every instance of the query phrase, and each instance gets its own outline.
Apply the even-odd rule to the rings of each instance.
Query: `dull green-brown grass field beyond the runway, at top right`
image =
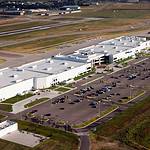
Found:
[[[85,7],[81,13],[70,14],[75,17],[98,18],[150,18],[149,3],[101,3],[99,6]]]

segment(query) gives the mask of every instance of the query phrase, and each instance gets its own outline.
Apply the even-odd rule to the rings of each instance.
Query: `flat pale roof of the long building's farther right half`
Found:
[[[135,36],[122,36],[115,39],[100,42],[90,47],[79,49],[78,51],[76,51],[76,53],[88,54],[90,52],[93,52],[96,54],[108,53],[114,55],[135,48],[143,42],[146,42],[146,38]]]

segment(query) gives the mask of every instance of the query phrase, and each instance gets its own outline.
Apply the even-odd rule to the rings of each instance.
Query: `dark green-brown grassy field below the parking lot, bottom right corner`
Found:
[[[150,97],[128,108],[112,120],[98,126],[94,139],[101,137],[119,140],[136,149],[150,148]],[[94,146],[94,145],[93,145]]]

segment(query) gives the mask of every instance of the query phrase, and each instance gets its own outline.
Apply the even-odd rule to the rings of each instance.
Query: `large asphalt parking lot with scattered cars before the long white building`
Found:
[[[96,75],[97,76],[97,75]],[[113,105],[128,101],[149,91],[150,59],[130,64],[125,69],[106,75],[76,90],[22,112],[26,120],[66,128],[91,119]],[[33,112],[34,111],[34,112]]]

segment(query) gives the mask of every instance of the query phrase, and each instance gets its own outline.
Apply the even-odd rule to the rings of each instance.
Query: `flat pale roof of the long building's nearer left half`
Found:
[[[0,69],[0,88],[34,77],[47,77],[49,75],[59,74],[69,69],[82,66],[83,64],[80,62],[50,58],[24,64],[17,68]]]

